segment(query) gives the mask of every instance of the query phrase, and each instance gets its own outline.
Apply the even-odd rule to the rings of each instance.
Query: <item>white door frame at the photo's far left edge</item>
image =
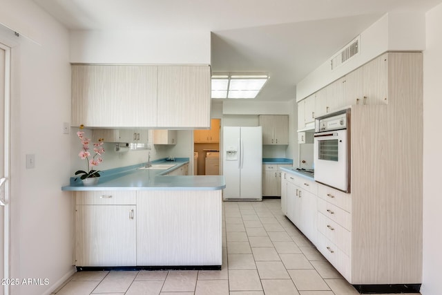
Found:
[[[11,97],[11,48],[0,43],[0,48],[5,50],[5,89],[4,89],[4,117],[3,117],[3,177],[4,184],[4,232],[3,232],[3,276],[10,278],[10,97]],[[3,285],[4,295],[10,294],[9,284]]]

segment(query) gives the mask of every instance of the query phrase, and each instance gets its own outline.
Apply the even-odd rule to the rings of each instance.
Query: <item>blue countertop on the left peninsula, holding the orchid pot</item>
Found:
[[[97,185],[85,187],[80,180],[70,179],[62,191],[157,191],[157,190],[219,190],[226,187],[223,175],[171,175],[165,174],[189,163],[189,158],[175,158],[175,161],[157,160],[152,164],[176,164],[170,169],[139,169],[144,164],[102,171]]]

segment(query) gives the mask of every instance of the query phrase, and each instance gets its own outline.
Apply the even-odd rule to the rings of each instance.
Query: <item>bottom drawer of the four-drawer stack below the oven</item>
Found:
[[[349,256],[345,255],[344,252],[336,247],[333,242],[320,233],[318,233],[316,247],[318,251],[320,251],[320,253],[323,254],[327,260],[329,260],[329,263],[332,263],[336,270],[351,283],[352,260],[350,260]]]

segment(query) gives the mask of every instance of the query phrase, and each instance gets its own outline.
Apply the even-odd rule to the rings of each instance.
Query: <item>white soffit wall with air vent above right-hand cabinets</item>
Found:
[[[299,102],[386,51],[424,50],[424,30],[425,15],[421,12],[384,15],[361,33],[358,55],[334,70],[330,66],[330,57],[302,79],[296,85],[296,100]]]

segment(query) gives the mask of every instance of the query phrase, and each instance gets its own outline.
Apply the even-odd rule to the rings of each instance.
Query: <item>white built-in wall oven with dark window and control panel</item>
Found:
[[[317,182],[350,192],[351,109],[316,118],[314,178]]]

